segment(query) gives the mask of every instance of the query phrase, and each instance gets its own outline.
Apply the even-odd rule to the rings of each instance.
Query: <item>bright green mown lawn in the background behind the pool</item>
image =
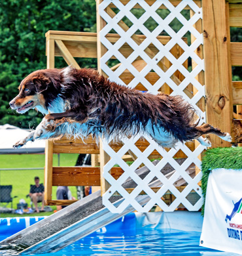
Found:
[[[78,154],[60,154],[61,166],[75,166]],[[0,155],[1,168],[33,168],[44,167],[44,154],[22,154],[22,155]],[[53,165],[58,166],[58,155],[54,155]],[[31,184],[35,184],[34,177],[39,176],[40,182],[44,183],[44,170],[14,170],[14,171],[0,171],[0,184],[12,185],[12,196],[18,196],[13,200],[13,208],[17,209],[17,203],[20,199],[26,200],[30,207],[30,199],[26,198],[29,194]],[[52,199],[56,199],[56,189],[54,186],[52,190]],[[70,186],[71,194],[77,198],[77,189],[75,186]],[[10,204],[8,205],[10,207]],[[56,209],[56,206],[52,207]],[[52,212],[53,213],[53,212]],[[22,216],[41,216],[50,215],[52,213],[34,213],[25,215],[13,215],[0,213],[0,217],[22,217]]]

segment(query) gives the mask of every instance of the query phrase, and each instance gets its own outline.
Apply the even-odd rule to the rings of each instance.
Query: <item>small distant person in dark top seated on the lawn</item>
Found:
[[[35,177],[35,184],[31,185],[29,196],[35,205],[35,211],[39,213],[38,202],[42,202],[41,211],[44,211],[44,185],[39,184],[39,177]]]

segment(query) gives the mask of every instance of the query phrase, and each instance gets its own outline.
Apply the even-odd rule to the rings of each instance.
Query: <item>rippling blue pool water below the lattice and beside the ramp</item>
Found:
[[[4,221],[2,221],[2,223],[4,224]],[[16,223],[14,223],[14,226],[16,226]],[[38,255],[237,255],[200,247],[200,235],[200,232],[185,232],[170,228],[150,228],[149,226],[137,228],[135,225],[135,215],[129,215],[129,217],[115,221],[105,228],[97,230],[97,232],[78,240],[56,253]],[[4,238],[6,238],[6,236],[0,236],[0,240]],[[0,251],[0,255],[9,256],[9,253]]]

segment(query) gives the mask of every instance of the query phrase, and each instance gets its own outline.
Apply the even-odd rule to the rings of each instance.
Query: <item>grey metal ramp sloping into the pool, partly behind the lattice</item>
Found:
[[[167,178],[175,172],[169,167],[164,171]],[[136,172],[142,179],[147,175],[148,169],[142,167]],[[188,173],[192,174],[194,170],[188,169]],[[184,180],[181,184],[182,182]],[[162,186],[162,183],[156,180],[152,181],[149,186],[158,187]],[[133,181],[126,181],[124,187],[133,187]],[[136,200],[141,205],[145,205],[150,198],[138,196]],[[119,196],[111,198],[111,202],[116,206],[122,201],[123,199]],[[0,254],[6,252],[6,255],[29,255],[56,252],[133,210],[130,206],[123,213],[111,213],[103,205],[99,190],[3,240],[0,242]]]

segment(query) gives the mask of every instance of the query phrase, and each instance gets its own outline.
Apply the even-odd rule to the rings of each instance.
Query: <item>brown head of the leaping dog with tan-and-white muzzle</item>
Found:
[[[44,94],[51,83],[52,79],[46,70],[37,70],[27,75],[18,87],[18,95],[9,102],[10,107],[20,114],[37,106],[46,109]]]

